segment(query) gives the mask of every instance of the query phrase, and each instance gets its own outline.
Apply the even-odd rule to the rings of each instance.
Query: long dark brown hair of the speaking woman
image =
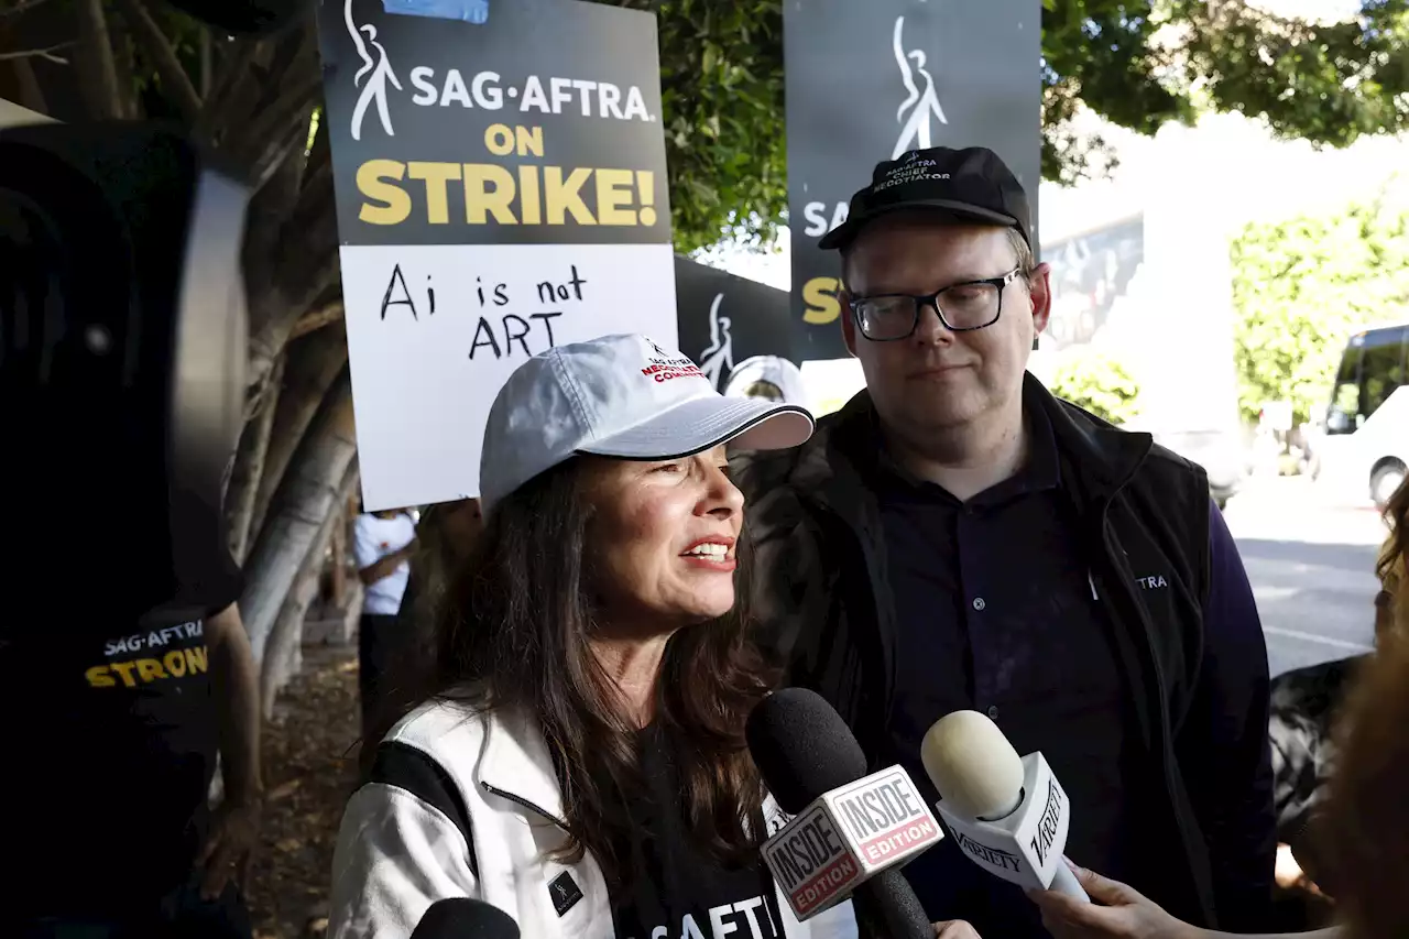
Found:
[[[589,646],[597,610],[583,465],[568,461],[495,506],[449,584],[428,696],[537,718],[562,787],[569,843],[559,860],[590,852],[619,890],[640,873],[620,808],[623,795],[641,784],[638,729],[620,716],[610,678]],[[764,836],[752,825],[762,784],[744,722],[776,678],[748,634],[747,537],[737,550],[734,609],[671,637],[655,701],[690,835],[726,863],[747,860]]]

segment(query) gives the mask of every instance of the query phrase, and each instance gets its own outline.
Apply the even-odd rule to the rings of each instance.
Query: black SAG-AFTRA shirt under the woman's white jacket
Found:
[[[644,788],[630,794],[637,876],[613,898],[617,939],[723,936],[782,939],[762,860],[727,867],[688,837],[679,773],[665,735],[641,732]],[[765,902],[765,898],[766,902]]]

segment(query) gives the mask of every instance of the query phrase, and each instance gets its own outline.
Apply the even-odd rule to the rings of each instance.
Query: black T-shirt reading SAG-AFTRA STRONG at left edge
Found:
[[[240,596],[232,568],[207,594]],[[0,647],[6,916],[151,914],[206,835],[217,711],[204,620],[52,629]]]

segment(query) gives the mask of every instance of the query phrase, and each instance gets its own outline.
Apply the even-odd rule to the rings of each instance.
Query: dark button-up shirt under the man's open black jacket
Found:
[[[1020,754],[1041,750],[1071,797],[1067,856],[1120,878],[1133,832],[1127,691],[1058,486],[1051,424],[1036,409],[1029,420],[1024,468],[968,502],[883,454],[871,467],[898,623],[882,763],[905,766],[933,802],[924,733],[952,711],[988,713]],[[906,876],[934,919],[968,919],[985,936],[1047,935],[1022,891],[952,839]]]

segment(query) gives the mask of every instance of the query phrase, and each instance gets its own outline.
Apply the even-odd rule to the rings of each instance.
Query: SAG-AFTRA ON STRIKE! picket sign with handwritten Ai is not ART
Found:
[[[478,495],[489,406],[526,358],[676,341],[655,18],[325,0],[318,30],[364,502]]]

